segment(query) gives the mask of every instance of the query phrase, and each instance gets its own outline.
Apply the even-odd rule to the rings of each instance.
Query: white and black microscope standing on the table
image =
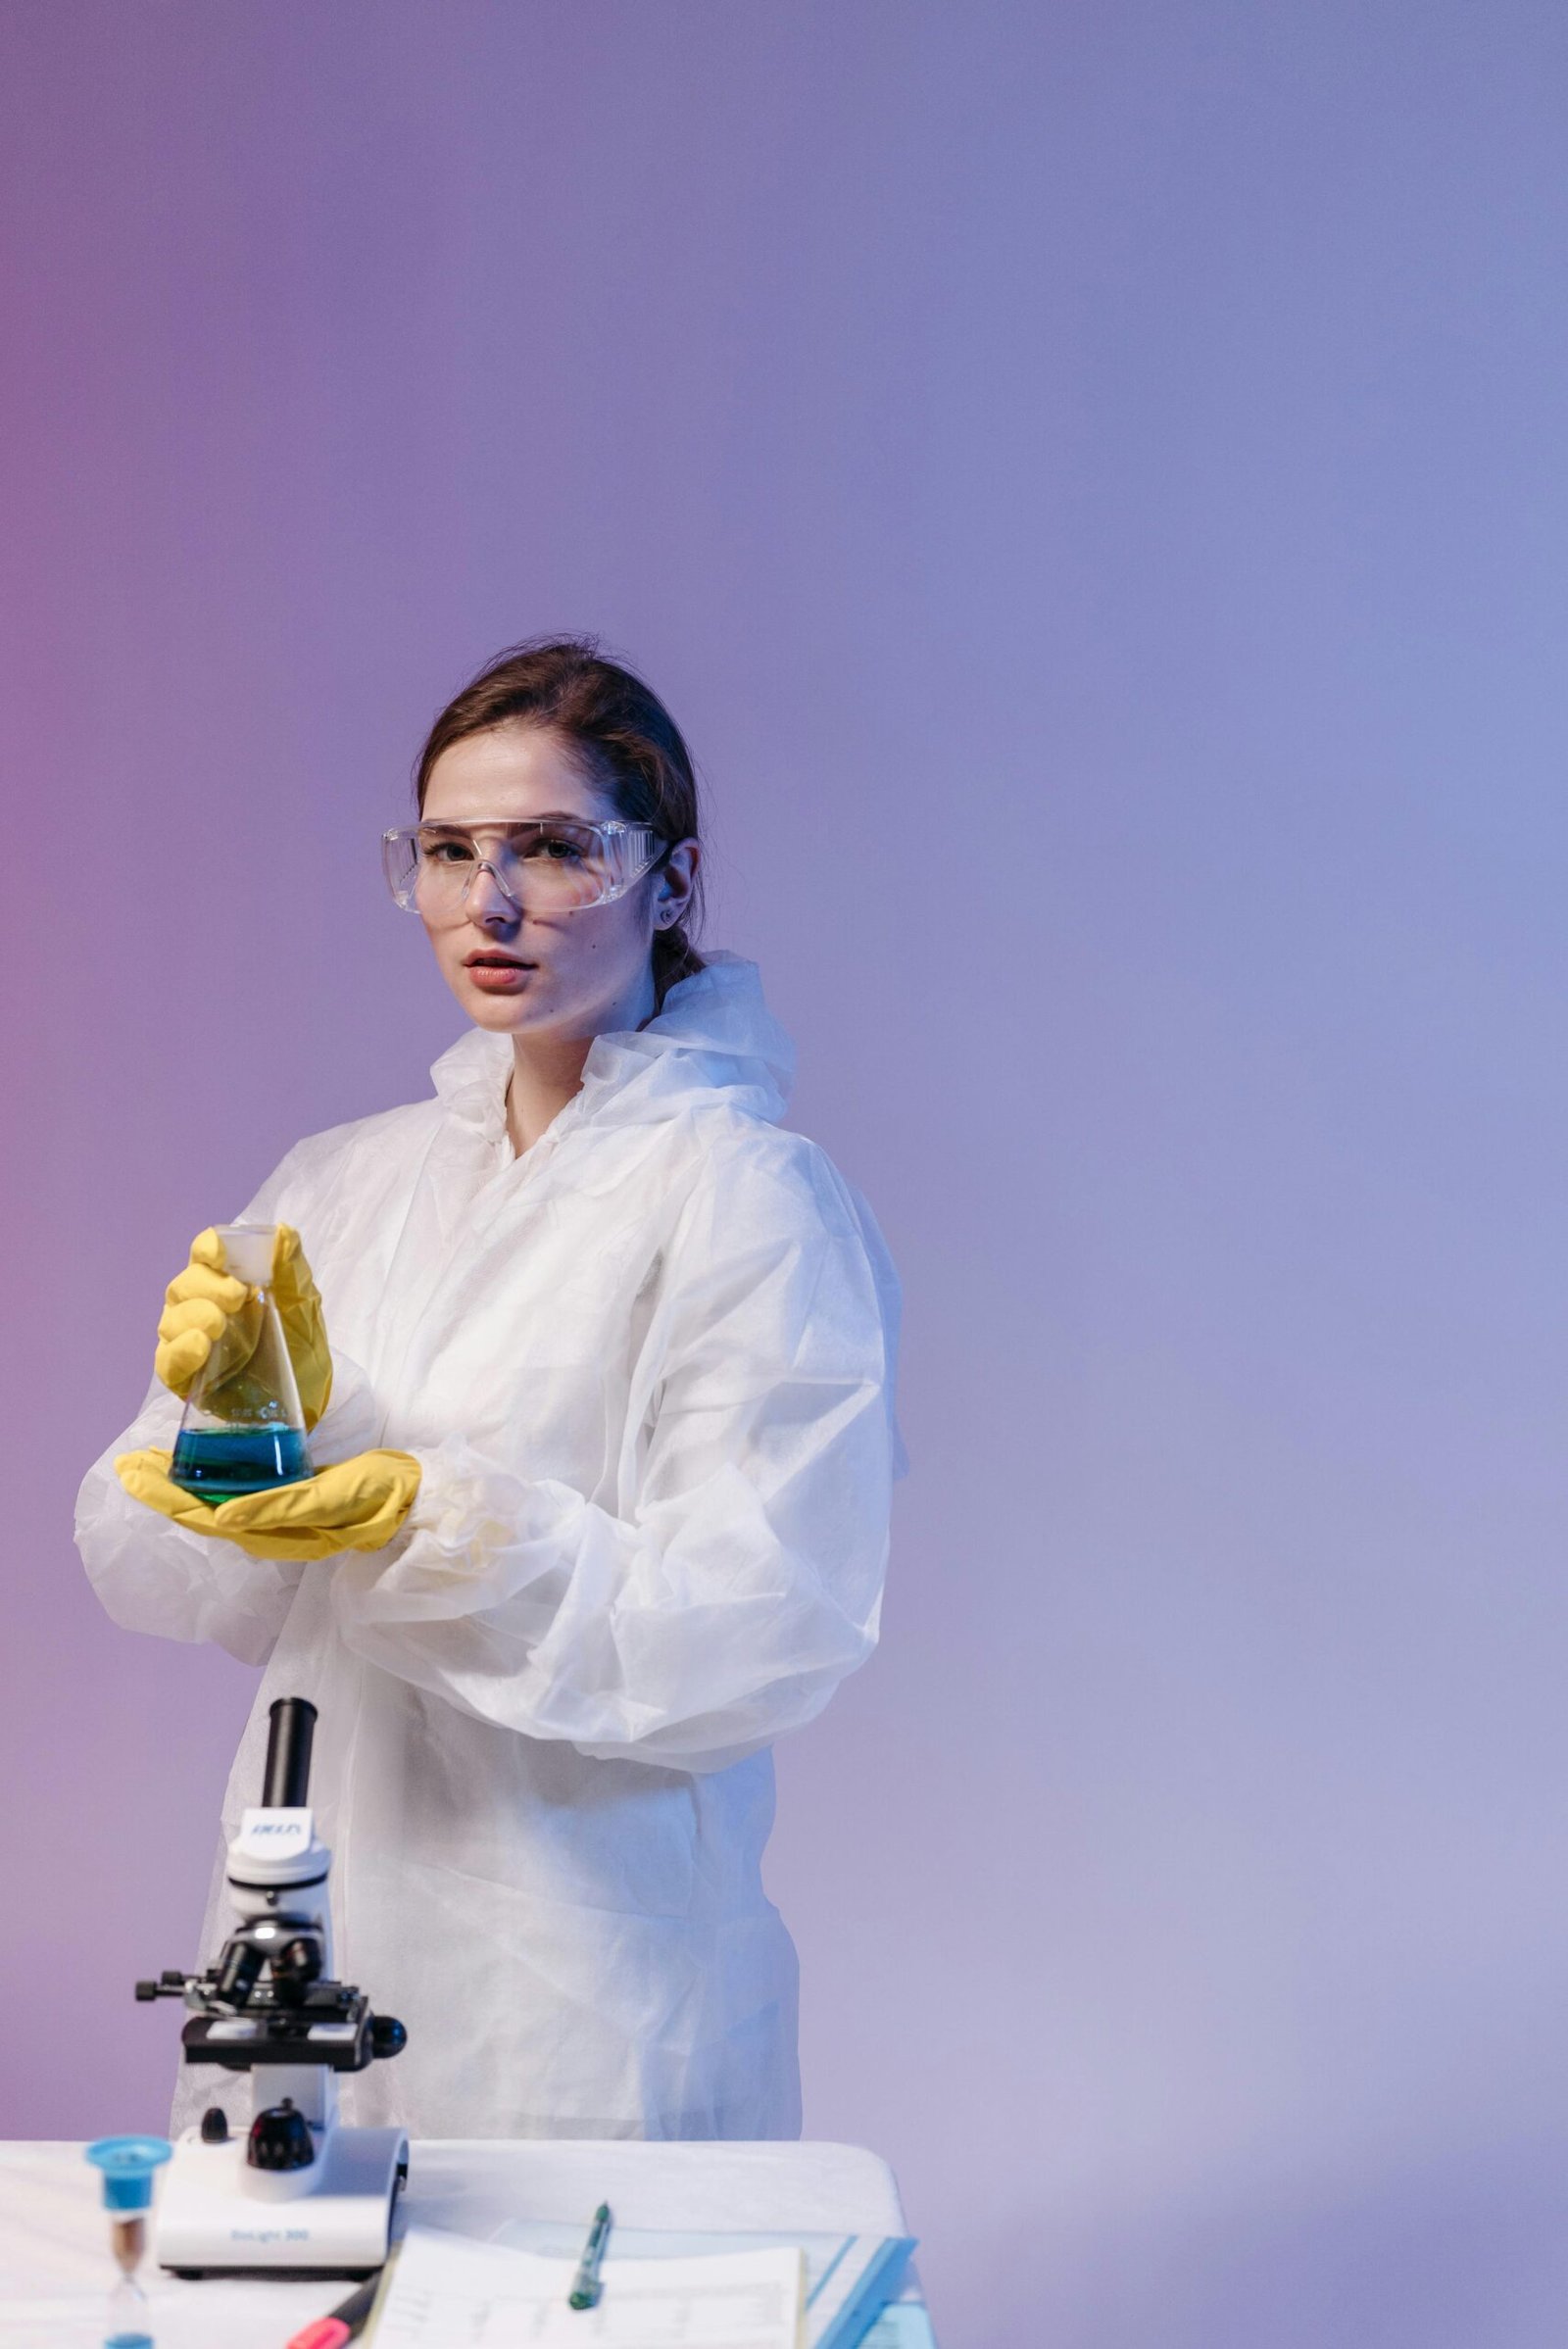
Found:
[[[216,1966],[136,1983],[138,1999],[190,2008],[185,2062],[254,2072],[244,2135],[214,2105],[174,2147],[153,2250],[176,2276],[369,2276],[408,2178],[406,2131],[338,2121],[338,2072],[397,2055],[408,2034],[333,1980],[331,1851],[307,1809],[315,1722],[303,1696],[270,1708],[261,1806],[228,1846],[242,1921]]]

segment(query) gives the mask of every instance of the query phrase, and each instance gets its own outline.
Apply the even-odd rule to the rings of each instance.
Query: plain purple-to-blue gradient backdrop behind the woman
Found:
[[[594,627],[908,1287],[779,1755],[951,2342],[1568,2302],[1568,21],[12,0],[7,2135],[160,2123],[251,1675],[70,1546],[157,1297],[458,1015],[373,841]]]

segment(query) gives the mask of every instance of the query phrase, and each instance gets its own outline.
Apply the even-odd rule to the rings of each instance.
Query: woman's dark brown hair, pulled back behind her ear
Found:
[[[413,768],[420,815],[430,773],[444,749],[491,726],[545,726],[575,754],[587,782],[615,803],[627,824],[650,824],[669,853],[697,834],[697,775],[681,728],[657,693],[615,660],[603,660],[594,637],[533,637],[486,660],[430,728]],[[657,867],[655,867],[657,869]],[[692,893],[692,928],[699,893]],[[653,933],[657,1003],[676,980],[702,970],[702,956],[676,921]]]

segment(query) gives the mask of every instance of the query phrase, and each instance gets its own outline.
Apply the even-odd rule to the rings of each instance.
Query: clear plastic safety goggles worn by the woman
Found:
[[[624,897],[660,862],[650,824],[570,817],[493,824],[399,824],[380,836],[387,888],[406,914],[453,921],[481,871],[521,911],[580,914]]]

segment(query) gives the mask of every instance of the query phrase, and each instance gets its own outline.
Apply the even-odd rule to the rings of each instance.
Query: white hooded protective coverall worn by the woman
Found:
[[[876,1644],[899,1442],[894,1273],[775,1125],[791,1059],[756,968],[721,956],[596,1038],[521,1158],[512,1041],[481,1029],[434,1099],[289,1151],[242,1219],[298,1226],[322,1290],[317,1463],[423,1463],[383,1550],[275,1564],[131,1501],[113,1454],[181,1416],[157,1384],[82,1485],[117,1623],[265,1663],[225,1832],[272,1698],[319,1708],[338,1976],[408,2025],[343,2077],[350,2121],[798,2135],[768,1748]],[[249,2119],[249,2079],[183,2069],[174,2128],[214,2102]]]

